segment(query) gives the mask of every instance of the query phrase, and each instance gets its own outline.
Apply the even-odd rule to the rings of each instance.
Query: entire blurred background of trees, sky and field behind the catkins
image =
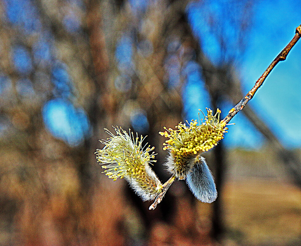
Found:
[[[163,126],[245,95],[301,23],[294,0],[0,0],[0,245],[301,245],[301,41],[205,153],[219,193],[149,211],[101,172],[103,128]],[[202,116],[202,115],[201,115]]]

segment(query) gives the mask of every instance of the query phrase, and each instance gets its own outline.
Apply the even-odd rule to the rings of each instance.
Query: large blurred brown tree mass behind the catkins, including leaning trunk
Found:
[[[3,245],[222,242],[225,149],[207,154],[219,198],[211,218],[183,181],[149,211],[100,174],[103,128],[148,135],[164,167],[163,126],[242,98],[236,64],[249,1],[0,1],[0,203]],[[200,26],[202,28],[200,28]],[[247,118],[301,185],[300,161],[246,106]],[[211,234],[210,234],[211,231]],[[213,237],[212,237],[213,236]]]

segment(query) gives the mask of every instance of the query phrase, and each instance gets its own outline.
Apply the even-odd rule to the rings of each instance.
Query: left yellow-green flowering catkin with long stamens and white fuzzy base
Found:
[[[134,138],[133,132],[127,134],[122,128],[115,128],[116,135],[108,131],[111,135],[107,140],[101,140],[105,146],[101,150],[96,150],[97,161],[104,173],[114,181],[117,178],[125,178],[135,192],[144,201],[154,199],[162,189],[162,184],[156,174],[151,170],[149,164],[156,162],[153,160],[155,152],[149,153],[155,147],[142,147],[145,139],[138,135]],[[146,148],[145,148],[146,147]]]

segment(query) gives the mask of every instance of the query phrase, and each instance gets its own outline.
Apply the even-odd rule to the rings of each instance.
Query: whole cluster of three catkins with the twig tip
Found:
[[[156,174],[151,170],[149,164],[155,162],[154,147],[142,147],[145,138],[129,129],[129,134],[122,128],[114,127],[116,134],[107,129],[110,138],[101,140],[105,146],[101,150],[96,150],[97,161],[102,168],[106,169],[104,173],[114,181],[117,178],[125,178],[135,192],[142,197],[144,201],[155,199],[150,209],[162,200],[165,192],[171,183],[178,179],[185,179],[194,193],[195,197],[203,202],[212,202],[217,197],[217,192],[212,174],[205,162],[205,159],[199,154],[208,151],[223,139],[223,134],[227,132],[226,122],[219,120],[221,111],[217,109],[215,115],[212,110],[207,108],[205,122],[198,125],[198,122],[192,120],[186,124],[180,122],[176,126],[177,130],[169,128],[165,132],[159,132],[162,136],[168,138],[163,143],[163,150],[169,151],[168,161],[166,163],[168,170],[173,174],[171,179],[164,185],[161,184]],[[145,148],[146,147],[146,148]]]

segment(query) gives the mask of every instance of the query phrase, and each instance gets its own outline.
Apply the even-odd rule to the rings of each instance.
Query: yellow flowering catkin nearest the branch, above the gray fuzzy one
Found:
[[[198,122],[192,120],[186,123],[180,122],[176,126],[178,130],[171,128],[165,132],[159,132],[162,136],[169,138],[163,143],[163,150],[169,150],[170,155],[166,163],[168,170],[179,179],[185,179],[195,165],[195,158],[204,151],[213,148],[219,140],[223,139],[223,134],[227,132],[226,123],[219,121],[221,111],[217,109],[215,115],[212,110],[207,109],[205,122],[197,125]]]

